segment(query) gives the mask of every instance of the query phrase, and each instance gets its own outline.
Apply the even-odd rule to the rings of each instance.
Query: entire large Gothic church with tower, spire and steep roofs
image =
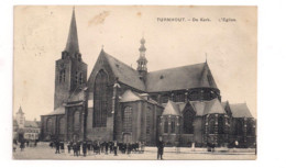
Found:
[[[62,57],[55,61],[53,112],[41,115],[41,138],[51,141],[144,142],[205,147],[256,142],[256,120],[246,103],[221,102],[207,60],[147,70],[145,40],[136,69],[103,48],[87,76],[79,52],[75,10]]]

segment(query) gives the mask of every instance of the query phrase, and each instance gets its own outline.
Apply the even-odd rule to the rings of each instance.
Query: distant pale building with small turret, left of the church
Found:
[[[36,121],[26,121],[25,115],[20,107],[16,112],[16,116],[13,120],[13,138],[15,139],[31,139],[35,141],[40,138],[41,134],[41,122]]]

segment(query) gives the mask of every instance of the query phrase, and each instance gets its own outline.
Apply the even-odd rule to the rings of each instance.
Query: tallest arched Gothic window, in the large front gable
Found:
[[[94,127],[107,126],[108,76],[100,70],[94,88]]]

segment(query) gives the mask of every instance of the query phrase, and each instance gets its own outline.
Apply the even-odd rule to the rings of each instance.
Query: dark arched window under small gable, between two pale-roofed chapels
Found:
[[[183,130],[185,134],[194,134],[194,120],[195,120],[195,112],[191,112],[190,110],[186,110],[183,114],[184,125]]]

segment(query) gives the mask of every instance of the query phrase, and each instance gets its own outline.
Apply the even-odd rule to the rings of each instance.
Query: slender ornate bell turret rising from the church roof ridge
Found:
[[[141,43],[141,46],[139,48],[140,57],[138,59],[138,71],[139,71],[139,74],[141,76],[140,78],[143,79],[143,81],[146,81],[147,59],[145,57],[146,47],[145,47],[145,40],[144,40],[144,37],[142,37],[140,43]]]

